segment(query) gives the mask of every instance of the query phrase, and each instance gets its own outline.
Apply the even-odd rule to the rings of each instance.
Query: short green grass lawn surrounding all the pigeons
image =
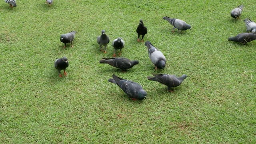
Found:
[[[244,4],[239,20],[230,11]],[[256,20],[254,1],[17,0],[0,4],[0,143],[256,143],[256,41],[227,38]],[[163,20],[192,26],[181,34]],[[144,43],[136,42],[143,19],[150,40],[167,59],[154,70]],[[120,72],[101,58],[96,37],[122,37],[122,56],[139,64]],[[74,48],[60,35],[76,30]],[[67,77],[54,60],[68,57]],[[112,74],[142,85],[148,96],[133,101],[107,80]],[[173,93],[147,80],[152,73],[187,74]]]

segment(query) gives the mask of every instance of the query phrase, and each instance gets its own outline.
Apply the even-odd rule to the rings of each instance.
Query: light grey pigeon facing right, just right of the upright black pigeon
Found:
[[[191,26],[189,24],[187,24],[186,22],[184,22],[183,20],[179,20],[176,18],[170,18],[168,16],[164,16],[163,19],[167,20],[172,26],[174,26],[172,28],[172,33],[174,33],[175,28],[177,28],[179,31],[187,30],[187,29],[191,30]]]

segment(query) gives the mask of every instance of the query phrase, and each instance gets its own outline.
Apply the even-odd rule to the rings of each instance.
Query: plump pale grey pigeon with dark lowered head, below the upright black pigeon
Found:
[[[145,46],[148,47],[148,56],[154,64],[155,70],[157,70],[157,68],[164,68],[166,65],[166,58],[164,54],[154,47],[150,41],[146,41]]]

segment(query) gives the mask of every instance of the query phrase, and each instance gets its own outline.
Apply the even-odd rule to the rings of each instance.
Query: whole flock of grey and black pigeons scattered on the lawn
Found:
[[[10,4],[10,7],[16,7],[16,0],[5,0],[6,3]],[[53,0],[46,0],[47,4],[52,5]],[[237,8],[234,8],[231,11],[232,18],[239,19],[240,15],[242,14],[242,10],[244,5],[240,4]],[[174,33],[174,29],[178,29],[179,32],[185,31],[190,29],[190,24],[187,24],[183,20],[170,18],[168,16],[163,17],[164,20],[167,20],[172,26],[172,33]],[[256,40],[256,23],[250,20],[250,18],[246,18],[244,20],[246,25],[246,33],[240,33],[237,36],[229,37],[228,41],[239,42],[242,44],[246,44],[252,40]],[[136,29],[136,33],[138,34],[138,42],[144,42],[144,36],[147,34],[148,29],[143,23],[143,20],[139,21],[139,25]],[[247,33],[250,32],[250,33]],[[60,36],[60,41],[64,43],[64,48],[66,48],[67,43],[71,43],[71,47],[73,47],[73,40],[75,38],[76,31],[72,30],[69,33],[62,34]],[[140,40],[140,35],[142,35]],[[100,45],[100,50],[106,53],[106,48],[108,43],[110,42],[110,38],[106,35],[106,31],[102,30],[101,35],[96,38],[96,42]],[[104,46],[104,50],[102,49]],[[120,69],[122,72],[126,72],[127,69],[132,68],[134,65],[138,64],[138,60],[129,60],[128,58],[124,57],[116,57],[116,50],[119,50],[118,55],[121,55],[121,50],[124,48],[124,40],[120,37],[114,39],[112,42],[112,46],[114,49],[114,54],[112,58],[102,58],[100,60],[101,64],[109,64],[110,66],[116,67]],[[148,48],[148,56],[154,65],[155,70],[157,69],[164,69],[166,66],[166,58],[164,54],[158,50],[150,41],[145,42],[145,46]],[[64,76],[67,76],[66,68],[68,68],[68,58],[58,58],[54,61],[54,67],[58,70],[59,76],[62,77],[60,74],[61,70],[64,70]],[[180,86],[183,80],[187,77],[186,74],[183,74],[180,77],[171,74],[152,74],[153,77],[148,76],[148,80],[160,82],[167,86],[167,90],[171,91],[170,88],[174,88]],[[140,84],[137,82],[126,80],[116,76],[115,74],[112,75],[113,78],[108,79],[108,82],[114,83],[118,85],[132,100],[144,100],[147,96],[147,92],[142,88]],[[172,91],[171,91],[172,92]]]

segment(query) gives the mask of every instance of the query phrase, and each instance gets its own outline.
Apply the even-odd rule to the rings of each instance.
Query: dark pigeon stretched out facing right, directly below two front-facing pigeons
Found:
[[[123,72],[126,69],[132,68],[134,65],[138,64],[138,60],[129,60],[128,58],[103,58],[103,60],[100,60],[101,64],[109,64],[110,66],[114,66],[116,68],[119,68]]]

